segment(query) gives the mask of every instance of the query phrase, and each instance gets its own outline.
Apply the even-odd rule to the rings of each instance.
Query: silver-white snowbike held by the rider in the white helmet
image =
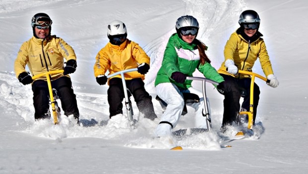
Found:
[[[126,87],[124,74],[128,73],[128,72],[133,72],[133,71],[138,71],[138,68],[132,68],[132,69],[119,71],[119,72],[116,72],[116,73],[113,73],[113,74],[107,76],[107,79],[109,79],[109,78],[112,78],[114,76],[121,75],[123,90],[124,90],[124,96],[125,96],[125,106],[126,106],[126,111],[127,111],[127,117],[128,117],[128,121],[130,122],[131,125],[134,125],[136,120],[134,120],[134,118],[133,118],[134,111],[133,111],[132,101],[131,101],[132,94],[129,91],[129,89]]]

